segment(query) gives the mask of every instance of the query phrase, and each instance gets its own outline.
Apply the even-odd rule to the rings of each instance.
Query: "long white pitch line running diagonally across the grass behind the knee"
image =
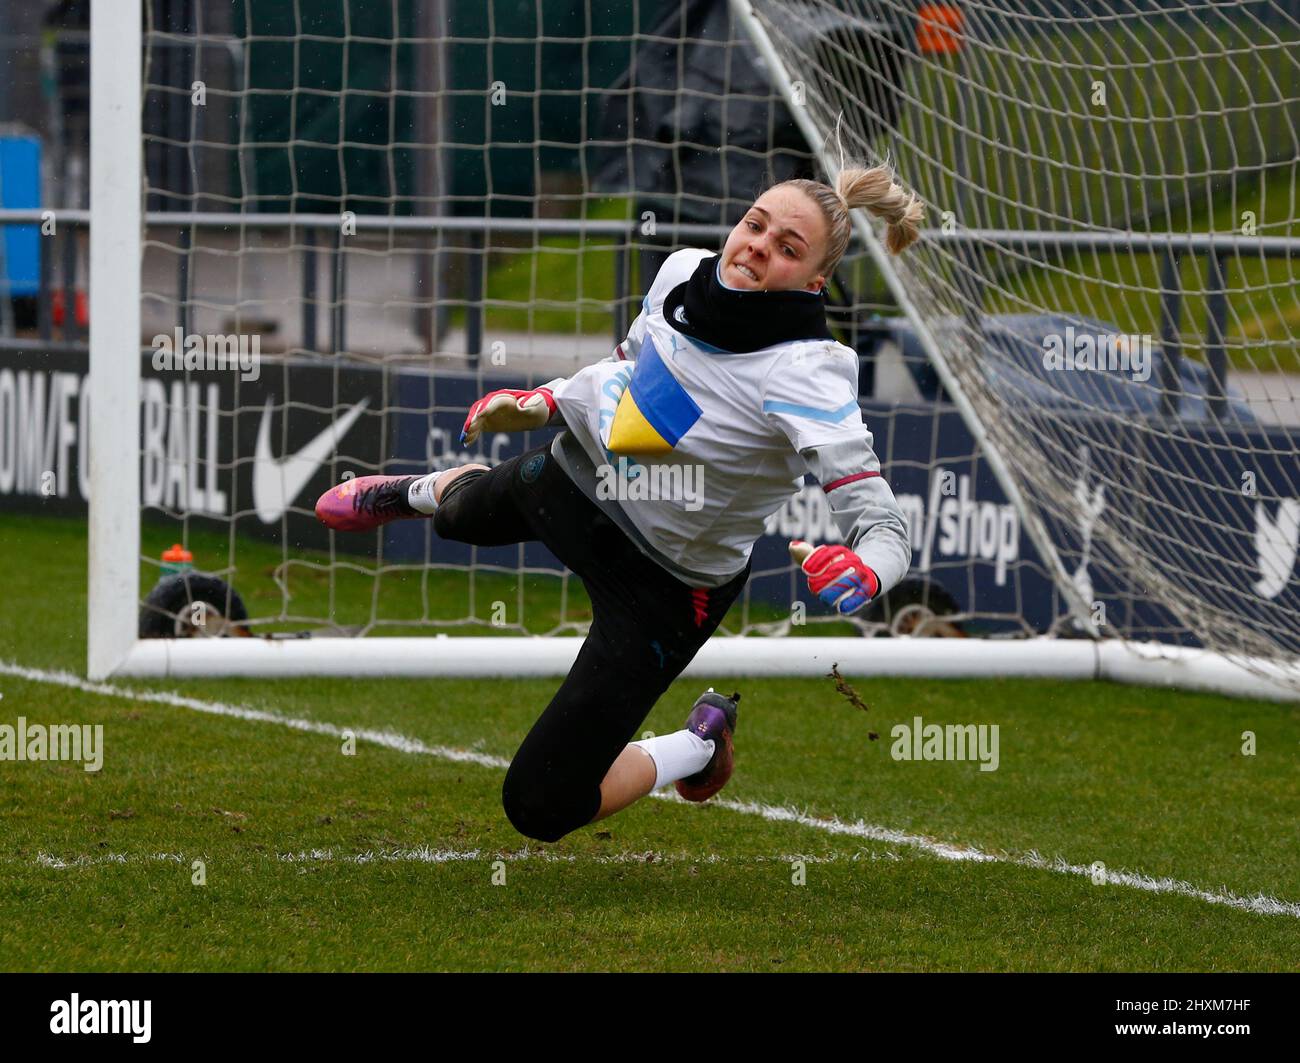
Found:
[[[101,694],[109,698],[125,698],[135,702],[155,702],[157,704],[168,704],[177,708],[188,708],[195,712],[205,712],[212,716],[228,716],[237,720],[248,720],[260,724],[276,724],[278,726],[291,728],[294,730],[307,732],[311,734],[325,734],[332,738],[343,738],[346,734],[354,734],[360,741],[396,750],[398,752],[416,754],[420,756],[436,756],[458,763],[481,764],[485,768],[510,767],[510,760],[502,756],[490,756],[488,754],[473,752],[471,750],[458,750],[450,746],[430,746],[417,738],[411,738],[391,730],[339,728],[334,724],[326,724],[318,720],[282,716],[277,712],[226,704],[224,702],[203,702],[198,698],[186,698],[181,694],[153,690],[131,690],[124,686],[90,682],[88,680],[83,680],[81,676],[74,676],[72,672],[47,672],[39,668],[25,668],[21,664],[0,660],[0,674],[16,676],[31,682],[47,682],[57,686],[68,686],[87,694]],[[651,794],[651,797],[675,800],[681,804],[690,803],[682,800],[673,793],[656,791]],[[1128,886],[1131,889],[1145,890],[1147,893],[1171,893],[1180,897],[1191,897],[1208,904],[1222,904],[1239,911],[1254,912],[1256,915],[1288,915],[1295,919],[1300,919],[1300,903],[1278,901],[1277,898],[1266,894],[1240,897],[1227,890],[1216,891],[1201,889],[1200,886],[1184,882],[1179,878],[1156,878],[1154,876],[1144,875],[1143,872],[1113,871],[1110,868],[1104,868],[1098,875],[1092,867],[1071,864],[1060,856],[1048,860],[1037,852],[1022,855],[985,852],[975,849],[974,846],[950,845],[948,842],[927,838],[922,834],[909,834],[904,830],[878,826],[862,820],[848,823],[835,816],[828,819],[810,816],[806,812],[801,812],[797,808],[790,808],[788,806],[725,799],[715,799],[711,800],[710,804],[715,808],[725,808],[742,815],[759,816],[770,823],[793,823],[800,826],[822,830],[827,834],[907,846],[910,849],[918,849],[941,860],[971,860],[976,863],[1014,864],[1017,867],[1050,871],[1057,875],[1083,876],[1087,878],[1104,877],[1104,882],[1106,885]],[[430,850],[430,852],[436,850]]]

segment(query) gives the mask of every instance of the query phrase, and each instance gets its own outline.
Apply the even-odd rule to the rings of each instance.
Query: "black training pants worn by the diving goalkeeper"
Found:
[[[502,788],[516,830],[556,841],[599,811],[601,780],[722,622],[749,567],[714,589],[676,580],[582,494],[550,443],[489,472],[465,473],[433,526],[445,539],[474,546],[545,543],[592,599],[592,630]],[[508,652],[506,643],[502,650]]]

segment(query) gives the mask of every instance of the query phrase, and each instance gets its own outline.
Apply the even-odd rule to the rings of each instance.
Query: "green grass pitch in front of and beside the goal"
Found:
[[[644,800],[542,846],[499,789],[558,681],[51,682],[84,669],[84,526],[0,517],[0,659],[36,669],[0,672],[0,724],[104,725],[98,773],[0,762],[10,969],[1297,966],[1296,914],[1223,903],[1300,901],[1294,707],[858,680],[863,715],[829,680],[740,681],[724,803]],[[676,684],[646,728],[680,726],[707,682]],[[915,716],[997,724],[998,769],[892,759],[890,728]],[[976,849],[991,859],[953,859]],[[1104,885],[1076,873],[1097,863]]]

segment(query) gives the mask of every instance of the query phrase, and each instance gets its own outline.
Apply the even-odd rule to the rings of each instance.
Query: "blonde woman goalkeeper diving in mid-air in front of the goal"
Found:
[[[845,541],[790,544],[814,594],[852,613],[907,570],[904,515],[858,408],[857,355],[826,324],[823,288],[855,207],[888,222],[893,253],[916,239],[922,204],[888,169],[776,185],[722,255],[663,264],[608,359],[485,395],[462,435],[563,426],[551,442],[491,469],[358,477],[316,503],[342,532],[432,516],[446,539],[540,541],[582,580],[590,633],[506,773],[521,834],[556,841],[668,782],[688,800],[723,788],[740,695],[710,690],[682,730],[629,739],[740,595],[764,520],[805,472]],[[646,498],[640,476],[681,490]]]

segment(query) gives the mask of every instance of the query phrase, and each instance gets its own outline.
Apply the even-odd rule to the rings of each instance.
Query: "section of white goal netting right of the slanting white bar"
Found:
[[[1080,625],[1294,663],[1300,5],[733,6],[930,207],[881,264]]]

